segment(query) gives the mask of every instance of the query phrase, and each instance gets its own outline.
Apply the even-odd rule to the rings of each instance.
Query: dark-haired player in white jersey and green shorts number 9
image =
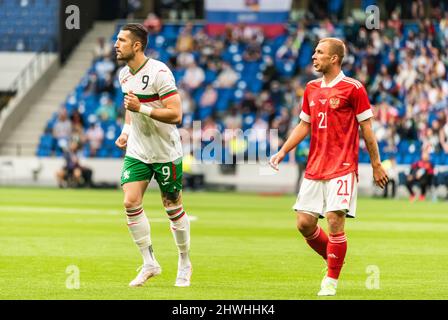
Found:
[[[168,67],[145,56],[147,43],[148,32],[140,24],[122,27],[115,43],[117,59],[127,63],[119,76],[126,109],[125,125],[116,141],[126,149],[121,185],[128,228],[143,256],[143,266],[129,285],[142,286],[162,272],[143,209],[143,195],[154,176],[179,251],[175,286],[186,287],[192,265],[190,222],[182,205],[182,146],[176,127],[182,122],[181,100]]]

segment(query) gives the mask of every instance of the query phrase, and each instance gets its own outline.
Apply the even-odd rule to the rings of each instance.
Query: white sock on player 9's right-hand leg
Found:
[[[166,208],[170,218],[171,231],[179,250],[179,267],[187,267],[190,263],[190,219],[182,206]]]

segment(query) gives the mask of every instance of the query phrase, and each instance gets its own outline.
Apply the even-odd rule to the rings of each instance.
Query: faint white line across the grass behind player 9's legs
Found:
[[[59,208],[59,207],[29,207],[29,206],[2,206],[0,205],[0,211],[13,211],[13,212],[39,212],[39,213],[57,213],[57,214],[80,214],[80,215],[123,215],[123,211],[119,210],[107,210],[107,209],[73,209],[73,208]],[[198,217],[188,215],[190,221],[198,220]],[[168,218],[151,218],[150,222],[167,222]]]

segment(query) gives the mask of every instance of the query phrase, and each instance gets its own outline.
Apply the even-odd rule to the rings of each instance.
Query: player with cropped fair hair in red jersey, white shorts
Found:
[[[356,213],[359,126],[370,155],[375,183],[384,188],[388,181],[372,131],[373,113],[367,92],[359,81],[342,72],[344,53],[345,45],[339,39],[319,41],[312,62],[323,77],[306,85],[301,121],[270,159],[271,166],[278,170],[286,154],[311,134],[305,177],[293,208],[297,212],[298,230],[327,262],[328,271],[319,296],[336,294],[344,264],[345,218],[355,217]],[[328,235],[318,225],[319,217],[327,218]]]

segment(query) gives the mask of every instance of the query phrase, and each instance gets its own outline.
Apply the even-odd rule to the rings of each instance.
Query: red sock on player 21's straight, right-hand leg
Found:
[[[344,265],[345,253],[347,252],[347,237],[344,232],[330,234],[327,246],[328,273],[332,279],[338,279]]]

